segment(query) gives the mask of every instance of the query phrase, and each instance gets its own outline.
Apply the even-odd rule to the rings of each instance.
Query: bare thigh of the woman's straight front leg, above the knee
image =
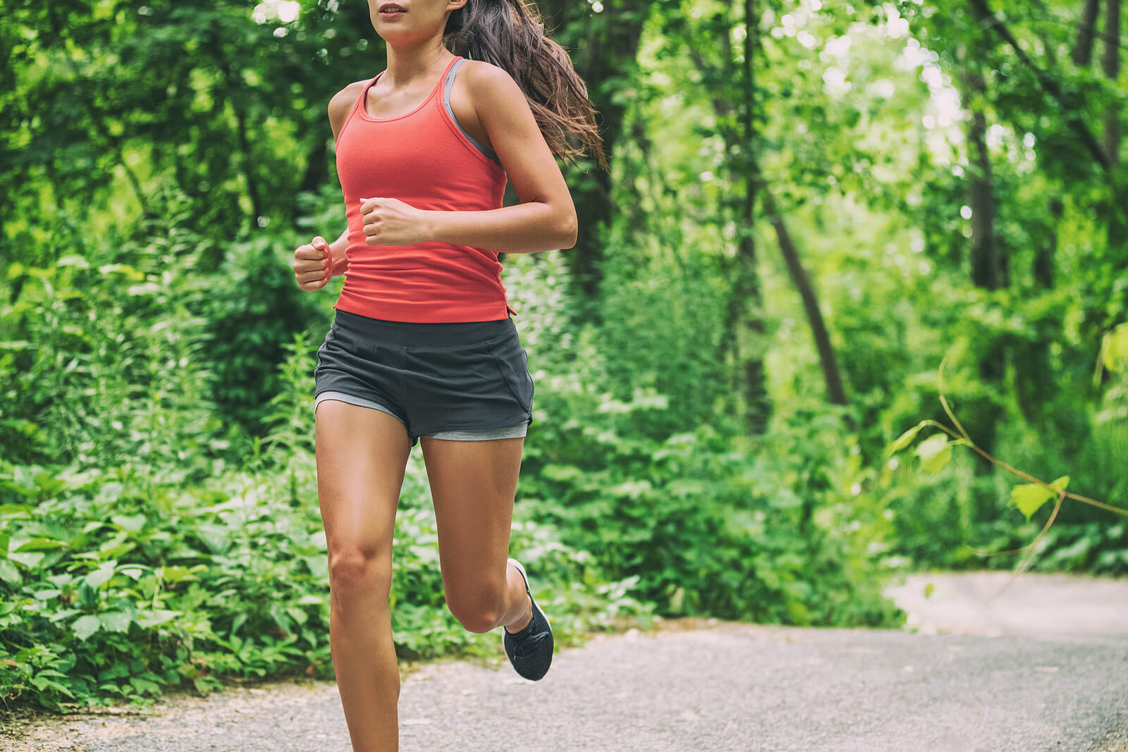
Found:
[[[317,492],[331,573],[364,568],[379,557],[390,574],[396,506],[411,451],[404,424],[387,413],[332,399],[317,406],[315,421]]]

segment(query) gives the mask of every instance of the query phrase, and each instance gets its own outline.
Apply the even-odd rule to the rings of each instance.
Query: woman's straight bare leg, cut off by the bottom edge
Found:
[[[329,649],[355,752],[399,746],[391,537],[411,443],[393,416],[317,406],[317,492],[329,549]]]

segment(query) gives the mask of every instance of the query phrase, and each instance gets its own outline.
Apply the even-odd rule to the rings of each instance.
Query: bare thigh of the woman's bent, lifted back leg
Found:
[[[525,439],[422,440],[448,602],[504,586]]]

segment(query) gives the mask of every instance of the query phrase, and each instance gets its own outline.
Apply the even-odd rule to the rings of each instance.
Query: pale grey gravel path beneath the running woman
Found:
[[[404,680],[400,749],[1128,751],[1128,581],[1023,575],[1002,590],[1008,578],[910,577],[891,595],[916,632],[631,631],[561,651],[540,682],[501,662],[429,664]],[[0,749],[350,749],[326,683],[179,698],[148,717],[43,718],[25,732]]]

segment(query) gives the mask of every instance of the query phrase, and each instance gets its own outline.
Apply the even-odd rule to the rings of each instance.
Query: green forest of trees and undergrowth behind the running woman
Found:
[[[1013,568],[975,549],[1052,504],[1028,520],[967,449],[885,454],[946,423],[945,356],[978,445],[1125,506],[1120,0],[538,5],[613,156],[567,168],[578,247],[504,275],[537,382],[513,551],[562,635],[895,626],[890,575]],[[326,105],[384,65],[368,12],[5,0],[5,702],[332,674],[312,370],[341,280],[290,264],[344,227]],[[495,654],[443,607],[409,470],[397,648]],[[1067,502],[1033,567],[1123,574],[1128,525]]]

